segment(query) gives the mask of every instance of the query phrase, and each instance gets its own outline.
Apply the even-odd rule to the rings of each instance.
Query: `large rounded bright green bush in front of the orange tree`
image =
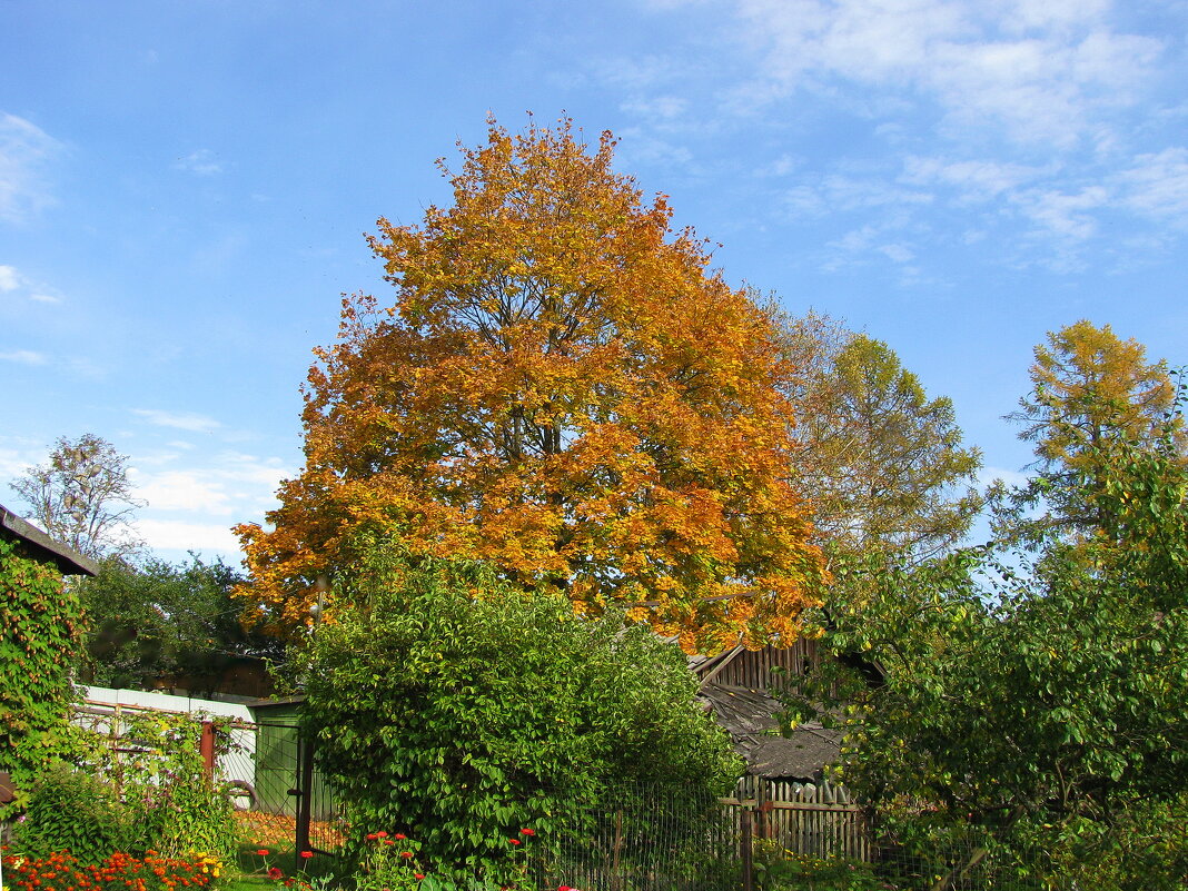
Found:
[[[546,840],[608,789],[733,784],[684,656],[646,627],[576,617],[478,564],[383,551],[337,606],[309,646],[321,770],[358,835],[415,838],[436,872],[498,878],[508,839]]]

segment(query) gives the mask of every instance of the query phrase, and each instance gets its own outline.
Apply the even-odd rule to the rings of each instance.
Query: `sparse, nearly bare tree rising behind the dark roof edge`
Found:
[[[78,554],[127,557],[144,546],[131,524],[144,503],[133,494],[127,465],[102,437],[63,436],[49,460],[30,467],[12,488],[46,532]]]

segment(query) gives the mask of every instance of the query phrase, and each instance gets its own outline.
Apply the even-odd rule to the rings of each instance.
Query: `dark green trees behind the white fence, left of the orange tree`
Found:
[[[238,657],[279,661],[274,639],[239,621],[242,606],[232,590],[241,581],[221,560],[191,555],[178,565],[148,560],[137,567],[108,557],[97,576],[78,584],[87,615],[81,676],[116,688],[184,678],[202,694],[217,688]]]

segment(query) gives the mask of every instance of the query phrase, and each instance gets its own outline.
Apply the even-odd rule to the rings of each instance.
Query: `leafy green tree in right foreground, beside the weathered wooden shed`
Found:
[[[1019,872],[1080,876],[1085,887],[1182,887],[1188,470],[1177,418],[1149,441],[1088,447],[1070,475],[1049,480],[1101,518],[1091,536],[1053,529],[1037,554],[877,564],[862,608],[830,615],[826,645],[840,662],[802,687],[794,714],[846,729],[842,776],[885,833],[967,846],[937,867],[935,887],[996,848]]]

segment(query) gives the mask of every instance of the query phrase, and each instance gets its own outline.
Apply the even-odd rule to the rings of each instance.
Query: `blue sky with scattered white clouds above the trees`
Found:
[[[364,233],[571,115],[728,280],[886,341],[988,474],[1045,331],[1188,362],[1182,0],[0,0],[0,503],[58,436],[129,455],[160,555],[238,560]]]

